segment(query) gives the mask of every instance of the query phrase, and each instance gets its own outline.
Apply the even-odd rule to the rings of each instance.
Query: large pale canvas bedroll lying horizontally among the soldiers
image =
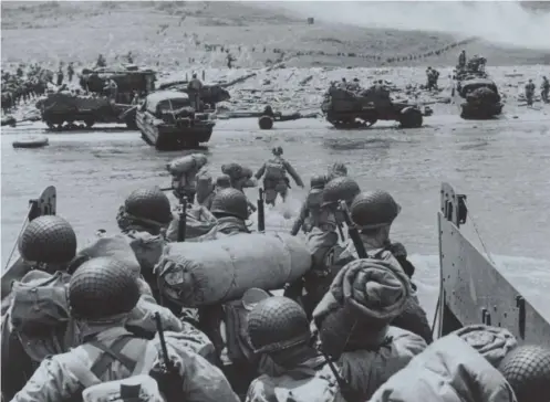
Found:
[[[169,243],[155,267],[159,289],[184,307],[238,299],[258,287],[280,289],[311,268],[303,240],[287,233],[237,234],[204,243]]]

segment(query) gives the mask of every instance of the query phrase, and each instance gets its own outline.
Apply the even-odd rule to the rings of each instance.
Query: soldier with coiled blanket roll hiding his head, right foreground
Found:
[[[346,286],[354,292],[344,296]],[[323,351],[338,366],[353,368],[342,373],[355,396],[347,400],[370,400],[380,385],[426,349],[422,337],[391,326],[403,313],[409,293],[408,278],[398,267],[356,260],[342,268],[315,308],[314,325]]]

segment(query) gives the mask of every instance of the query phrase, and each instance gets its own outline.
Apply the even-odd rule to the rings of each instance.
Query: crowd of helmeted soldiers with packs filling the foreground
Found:
[[[284,172],[269,176],[290,167],[281,155],[274,148],[256,178],[264,178],[266,194],[284,199]],[[189,208],[208,208],[217,235],[246,242],[251,211],[242,189],[253,184],[250,169],[224,166],[208,192],[206,165],[201,155],[170,163],[175,194]],[[425,402],[434,395],[456,402],[479,394],[547,401],[550,350],[517,347],[506,329],[486,326],[434,341],[415,267],[405,246],[390,240],[399,213],[388,192],[362,190],[343,163],[313,176],[292,231],[307,233],[312,268],[284,296],[248,303],[237,328],[225,326],[225,305],[183,307],[163,286],[156,266],[179,239],[168,235],[177,216],[158,188],[132,192],[118,211],[121,233],[81,251],[68,221],[39,216],[20,237],[23,272],[2,300],[2,395],[14,402]],[[107,253],[106,242],[121,244]],[[495,337],[505,341],[485,343]],[[239,345],[252,353],[236,353]],[[434,367],[444,380],[434,380]],[[440,393],[440,381],[449,392]],[[531,398],[533,389],[540,399]]]

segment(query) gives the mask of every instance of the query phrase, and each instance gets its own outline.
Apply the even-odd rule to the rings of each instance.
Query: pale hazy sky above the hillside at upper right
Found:
[[[266,1],[263,7],[318,21],[460,33],[550,50],[550,10],[528,11],[519,1]]]

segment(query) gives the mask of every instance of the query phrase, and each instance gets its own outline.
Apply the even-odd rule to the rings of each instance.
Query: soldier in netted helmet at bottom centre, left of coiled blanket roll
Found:
[[[336,378],[310,346],[310,324],[298,303],[287,297],[261,300],[248,314],[248,336],[255,351],[271,359],[278,370],[264,364],[246,402],[338,400]]]

